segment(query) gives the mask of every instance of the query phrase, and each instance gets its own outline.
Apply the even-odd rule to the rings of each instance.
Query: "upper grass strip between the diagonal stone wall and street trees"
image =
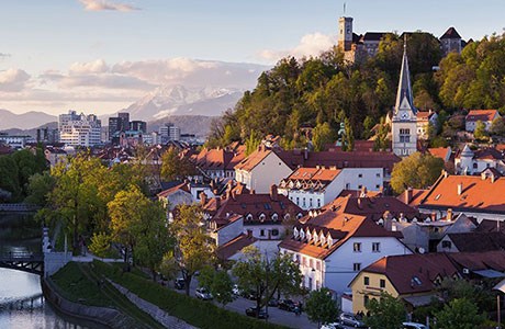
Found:
[[[212,303],[164,288],[142,272],[123,273],[117,265],[93,261],[98,273],[126,287],[141,298],[157,305],[171,316],[199,328],[284,328],[223,309]]]

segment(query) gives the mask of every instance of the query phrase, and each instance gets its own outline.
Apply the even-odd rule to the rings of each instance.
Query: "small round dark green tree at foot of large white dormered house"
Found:
[[[308,295],[305,311],[311,321],[317,322],[317,328],[321,328],[322,324],[335,321],[338,313],[337,304],[332,298],[332,293],[326,287],[313,291]]]

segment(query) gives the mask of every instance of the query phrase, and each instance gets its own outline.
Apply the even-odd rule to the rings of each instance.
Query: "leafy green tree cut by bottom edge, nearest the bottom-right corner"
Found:
[[[485,315],[480,315],[476,305],[467,298],[451,300],[436,318],[436,328],[440,329],[473,329],[485,321]]]

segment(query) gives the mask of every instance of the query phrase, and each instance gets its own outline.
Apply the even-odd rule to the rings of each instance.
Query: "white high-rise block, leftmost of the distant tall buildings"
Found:
[[[94,146],[101,143],[101,121],[97,115],[68,111],[58,122],[59,141],[68,146]]]

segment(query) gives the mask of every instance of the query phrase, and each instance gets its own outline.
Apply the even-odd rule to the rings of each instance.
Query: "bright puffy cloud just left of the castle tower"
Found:
[[[265,49],[259,53],[261,58],[277,61],[287,56],[296,58],[318,56],[321,53],[328,50],[336,44],[335,36],[325,35],[319,32],[304,35],[300,43],[289,50]]]

